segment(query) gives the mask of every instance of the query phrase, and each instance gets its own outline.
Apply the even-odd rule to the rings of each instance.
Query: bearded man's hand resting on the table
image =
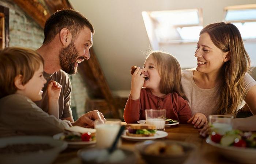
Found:
[[[72,122],[72,125],[78,125],[86,128],[94,128],[94,120],[105,120],[103,114],[98,110],[90,111],[83,114],[77,121]]]

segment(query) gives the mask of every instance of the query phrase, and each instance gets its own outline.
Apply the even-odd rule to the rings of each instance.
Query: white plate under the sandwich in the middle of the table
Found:
[[[157,132],[155,132],[155,136],[151,136],[151,137],[133,137],[133,136],[127,136],[126,132],[128,130],[124,131],[124,134],[122,135],[123,138],[125,138],[126,140],[131,140],[131,141],[144,141],[144,140],[154,140],[157,138],[163,138],[168,136],[168,133],[164,132],[164,131],[160,131],[157,130]]]

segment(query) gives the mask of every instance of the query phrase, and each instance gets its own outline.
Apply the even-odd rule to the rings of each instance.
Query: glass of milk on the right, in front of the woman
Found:
[[[210,132],[224,135],[227,131],[232,130],[233,118],[234,116],[231,115],[210,115]]]

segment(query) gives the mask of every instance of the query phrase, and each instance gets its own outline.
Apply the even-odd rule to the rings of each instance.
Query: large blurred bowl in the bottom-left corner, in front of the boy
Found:
[[[15,136],[0,138],[0,148],[13,144],[49,144],[53,148],[39,152],[0,154],[0,164],[50,164],[57,155],[67,148],[65,141],[46,136]]]

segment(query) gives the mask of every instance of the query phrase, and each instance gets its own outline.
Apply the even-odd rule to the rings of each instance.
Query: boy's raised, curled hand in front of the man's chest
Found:
[[[61,87],[60,83],[50,81],[47,86],[48,97],[52,99],[59,99]]]

